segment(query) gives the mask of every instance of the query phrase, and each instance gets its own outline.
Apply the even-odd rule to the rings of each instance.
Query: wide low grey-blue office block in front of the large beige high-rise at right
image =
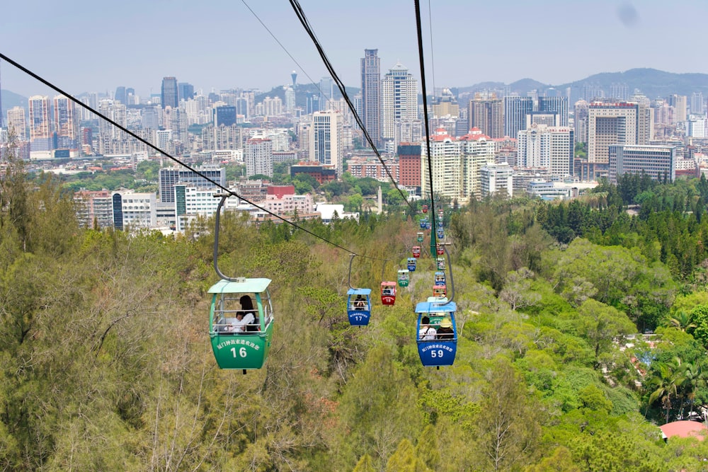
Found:
[[[676,177],[676,148],[674,146],[634,146],[615,144],[609,147],[610,182],[624,173],[645,173],[652,180],[664,178],[673,182]]]

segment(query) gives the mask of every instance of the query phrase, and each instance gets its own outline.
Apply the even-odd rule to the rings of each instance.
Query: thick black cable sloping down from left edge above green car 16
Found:
[[[84,108],[84,109],[86,109],[86,110],[89,110],[91,113],[94,113],[94,114],[98,115],[99,117],[101,117],[102,120],[105,120],[105,121],[109,122],[111,125],[117,127],[117,128],[120,129],[122,132],[125,132],[126,134],[130,135],[131,137],[137,139],[139,142],[142,142],[142,144],[145,144],[146,146],[148,146],[149,148],[153,149],[154,151],[159,152],[160,154],[164,154],[164,156],[166,156],[167,158],[171,159],[171,161],[173,161],[173,162],[179,164],[180,166],[183,166],[184,168],[188,169],[188,171],[191,171],[191,172],[195,173],[196,175],[199,175],[199,176],[200,176],[201,178],[203,178],[204,180],[207,180],[207,182],[210,182],[210,183],[212,183],[213,185],[215,185],[215,187],[220,188],[221,190],[224,190],[224,192],[227,192],[227,194],[229,194],[229,196],[237,197],[237,198],[239,198],[240,200],[243,200],[244,202],[248,203],[249,205],[253,205],[253,207],[256,207],[256,208],[260,209],[261,211],[263,211],[263,212],[265,212],[265,213],[267,213],[267,214],[270,214],[270,216],[275,217],[275,218],[277,218],[277,219],[280,219],[280,220],[283,221],[284,223],[290,224],[291,226],[294,226],[295,228],[299,229],[300,231],[304,231],[304,233],[307,233],[307,234],[309,234],[309,235],[311,235],[311,236],[314,236],[315,238],[320,239],[321,241],[324,241],[324,242],[326,242],[326,243],[328,243],[328,244],[331,244],[331,246],[334,246],[334,247],[336,247],[336,248],[339,248],[339,249],[341,249],[341,250],[343,250],[343,251],[347,251],[347,252],[350,253],[350,254],[355,254],[355,255],[358,255],[360,258],[367,258],[367,259],[372,259],[372,260],[388,260],[388,259],[384,259],[384,258],[376,258],[376,257],[373,257],[373,256],[371,256],[371,255],[359,254],[359,253],[356,253],[355,251],[351,251],[350,249],[345,248],[345,247],[343,247],[343,246],[340,246],[340,245],[338,245],[337,243],[334,243],[333,241],[329,241],[329,239],[327,239],[327,238],[324,238],[324,237],[322,237],[322,236],[319,236],[319,234],[315,234],[315,233],[313,233],[312,231],[309,231],[309,229],[305,229],[305,228],[303,228],[302,226],[299,226],[299,224],[295,224],[295,223],[293,223],[292,221],[281,217],[279,214],[275,214],[275,213],[271,212],[270,210],[261,207],[260,205],[256,205],[255,203],[253,203],[253,202],[247,200],[246,198],[241,197],[241,195],[237,194],[237,193],[234,192],[233,190],[230,190],[230,189],[224,187],[223,185],[221,185],[221,184],[218,183],[217,181],[213,180],[212,178],[208,177],[208,176],[205,175],[204,173],[201,173],[200,171],[198,171],[197,169],[193,168],[193,167],[190,166],[189,164],[184,163],[184,162],[180,161],[179,159],[177,159],[176,157],[172,156],[171,154],[169,154],[169,153],[163,151],[162,149],[160,149],[159,147],[155,146],[155,145],[152,144],[151,142],[148,142],[146,139],[143,139],[142,137],[139,137],[137,134],[135,134],[134,132],[130,131],[130,129],[127,129],[126,127],[123,127],[122,125],[118,124],[118,122],[115,122],[114,120],[111,120],[109,117],[106,117],[105,115],[102,115],[102,114],[99,113],[97,110],[94,110],[94,109],[91,108],[89,105],[86,105],[86,103],[81,102],[81,100],[79,100],[78,98],[76,98],[76,97],[72,96],[70,93],[67,93],[66,91],[62,90],[62,88],[59,88],[59,87],[56,86],[55,84],[52,84],[52,82],[47,81],[47,79],[44,79],[44,78],[43,78],[42,76],[40,76],[39,74],[36,74],[35,72],[30,71],[30,69],[27,69],[27,68],[24,67],[22,64],[19,64],[18,62],[14,61],[13,59],[7,57],[5,54],[0,53],[0,59],[4,59],[4,60],[5,60],[6,62],[8,62],[9,64],[12,64],[12,65],[13,65],[14,67],[16,67],[17,69],[20,69],[21,71],[23,71],[25,74],[28,74],[29,76],[33,77],[33,79],[36,79],[36,80],[40,81],[42,84],[45,84],[45,86],[47,86],[47,87],[49,87],[49,88],[52,88],[53,90],[55,90],[55,91],[61,93],[63,96],[69,98],[69,100],[72,100],[72,102],[76,103],[76,105],[79,105],[81,108]]]

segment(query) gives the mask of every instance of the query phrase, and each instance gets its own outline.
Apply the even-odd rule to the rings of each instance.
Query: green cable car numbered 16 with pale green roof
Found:
[[[213,294],[209,337],[220,369],[245,373],[260,369],[268,359],[273,338],[269,284],[270,279],[239,277],[236,282],[219,280],[209,289]]]

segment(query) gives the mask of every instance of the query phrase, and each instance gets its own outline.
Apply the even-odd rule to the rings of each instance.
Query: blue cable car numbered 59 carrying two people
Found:
[[[426,367],[452,365],[457,354],[457,305],[447,299],[423,301],[416,305],[418,314],[418,355]]]

